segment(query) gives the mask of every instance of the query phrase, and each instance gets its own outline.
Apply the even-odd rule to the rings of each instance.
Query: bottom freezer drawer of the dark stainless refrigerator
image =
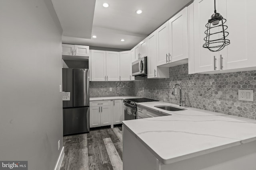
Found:
[[[63,109],[63,135],[90,131],[89,107]]]

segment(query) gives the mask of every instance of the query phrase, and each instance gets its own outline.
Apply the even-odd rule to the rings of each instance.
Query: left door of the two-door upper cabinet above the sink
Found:
[[[169,27],[168,21],[156,30],[157,66],[169,63]]]

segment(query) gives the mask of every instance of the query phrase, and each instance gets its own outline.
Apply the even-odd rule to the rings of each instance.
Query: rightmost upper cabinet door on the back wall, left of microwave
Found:
[[[122,51],[120,52],[120,81],[130,80],[131,75],[131,52]]]

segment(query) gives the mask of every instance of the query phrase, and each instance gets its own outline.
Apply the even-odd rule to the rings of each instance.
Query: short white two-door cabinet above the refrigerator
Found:
[[[89,57],[89,46],[62,44],[62,55]]]

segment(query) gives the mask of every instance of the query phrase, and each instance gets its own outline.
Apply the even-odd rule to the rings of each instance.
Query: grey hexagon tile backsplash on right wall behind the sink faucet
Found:
[[[170,68],[170,78],[133,82],[133,95],[179,104],[179,90],[171,94],[176,83],[185,106],[256,119],[256,71],[188,74],[188,64],[183,64]],[[238,100],[238,89],[253,89],[254,102]]]

